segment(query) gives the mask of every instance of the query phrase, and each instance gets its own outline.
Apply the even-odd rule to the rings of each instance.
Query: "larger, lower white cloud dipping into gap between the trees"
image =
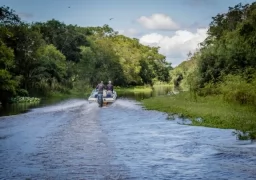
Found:
[[[163,36],[158,33],[146,34],[140,38],[140,43],[159,46],[159,53],[166,56],[167,61],[177,66],[187,59],[188,52],[195,52],[198,44],[207,37],[207,28],[197,29],[195,33],[178,30],[173,36]]]

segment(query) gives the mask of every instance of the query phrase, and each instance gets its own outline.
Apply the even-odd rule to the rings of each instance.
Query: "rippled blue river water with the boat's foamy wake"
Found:
[[[0,117],[0,179],[256,179],[256,145],[118,99]]]

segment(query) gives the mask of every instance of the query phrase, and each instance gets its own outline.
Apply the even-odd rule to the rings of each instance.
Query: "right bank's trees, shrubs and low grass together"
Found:
[[[154,103],[168,112],[204,119],[195,124],[234,128],[239,139],[256,139],[255,32],[256,2],[240,3],[213,17],[201,49],[171,71],[174,85],[189,89],[190,99],[179,95],[168,103]]]

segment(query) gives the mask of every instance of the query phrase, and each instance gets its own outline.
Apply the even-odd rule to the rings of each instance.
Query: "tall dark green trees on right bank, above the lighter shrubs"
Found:
[[[213,18],[198,57],[200,84],[256,67],[256,3],[229,8]]]

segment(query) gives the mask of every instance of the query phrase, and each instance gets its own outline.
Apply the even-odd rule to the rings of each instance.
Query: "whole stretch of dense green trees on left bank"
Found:
[[[0,7],[0,102],[14,96],[168,82],[171,64],[158,47],[119,35],[108,25],[79,27],[52,19],[25,23]]]

